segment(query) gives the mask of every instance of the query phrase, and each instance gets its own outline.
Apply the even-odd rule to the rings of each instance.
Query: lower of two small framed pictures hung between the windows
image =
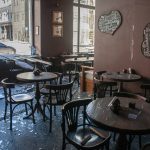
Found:
[[[53,25],[53,37],[63,37],[63,25]]]

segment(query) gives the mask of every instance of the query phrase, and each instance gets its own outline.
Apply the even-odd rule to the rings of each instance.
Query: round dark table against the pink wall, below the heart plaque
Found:
[[[102,77],[105,79],[119,82],[118,92],[122,91],[123,82],[136,82],[141,79],[140,75],[123,73],[123,72],[105,72],[102,74]]]

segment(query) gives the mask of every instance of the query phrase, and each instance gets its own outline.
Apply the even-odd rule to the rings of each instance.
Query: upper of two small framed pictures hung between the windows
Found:
[[[53,23],[57,23],[57,24],[63,23],[63,12],[53,11]]]

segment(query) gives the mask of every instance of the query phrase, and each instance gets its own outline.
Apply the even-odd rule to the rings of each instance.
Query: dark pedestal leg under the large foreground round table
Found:
[[[127,137],[126,134],[119,134],[117,144],[116,144],[116,150],[127,150]]]

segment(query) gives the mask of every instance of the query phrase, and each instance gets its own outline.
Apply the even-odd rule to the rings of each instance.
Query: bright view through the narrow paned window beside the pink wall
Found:
[[[73,52],[94,50],[95,0],[74,0]]]

